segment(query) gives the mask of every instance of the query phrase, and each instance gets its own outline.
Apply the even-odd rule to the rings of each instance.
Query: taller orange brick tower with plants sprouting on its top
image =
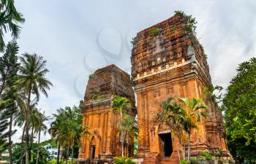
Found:
[[[154,126],[152,120],[168,97],[203,98],[204,88],[211,85],[203,48],[189,31],[185,16],[176,14],[137,34],[131,62],[138,104],[138,155],[146,164],[178,163],[171,129]],[[223,160],[228,160],[224,134],[222,114],[211,107],[209,116],[192,132],[192,156],[221,150]]]

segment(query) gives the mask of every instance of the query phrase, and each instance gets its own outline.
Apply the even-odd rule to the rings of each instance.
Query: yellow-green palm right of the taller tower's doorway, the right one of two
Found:
[[[183,127],[189,136],[189,147],[187,153],[187,161],[189,162],[190,137],[192,129],[197,128],[197,122],[201,121],[201,117],[206,117],[206,115],[208,114],[208,106],[206,106],[200,98],[180,98],[180,100],[183,104],[185,104],[185,106],[181,106],[184,109],[184,111],[187,112],[183,120]]]

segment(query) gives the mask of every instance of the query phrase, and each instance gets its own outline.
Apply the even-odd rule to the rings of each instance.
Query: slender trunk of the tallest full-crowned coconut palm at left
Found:
[[[29,96],[26,104],[26,164],[29,164],[30,95],[31,86],[29,87]]]

